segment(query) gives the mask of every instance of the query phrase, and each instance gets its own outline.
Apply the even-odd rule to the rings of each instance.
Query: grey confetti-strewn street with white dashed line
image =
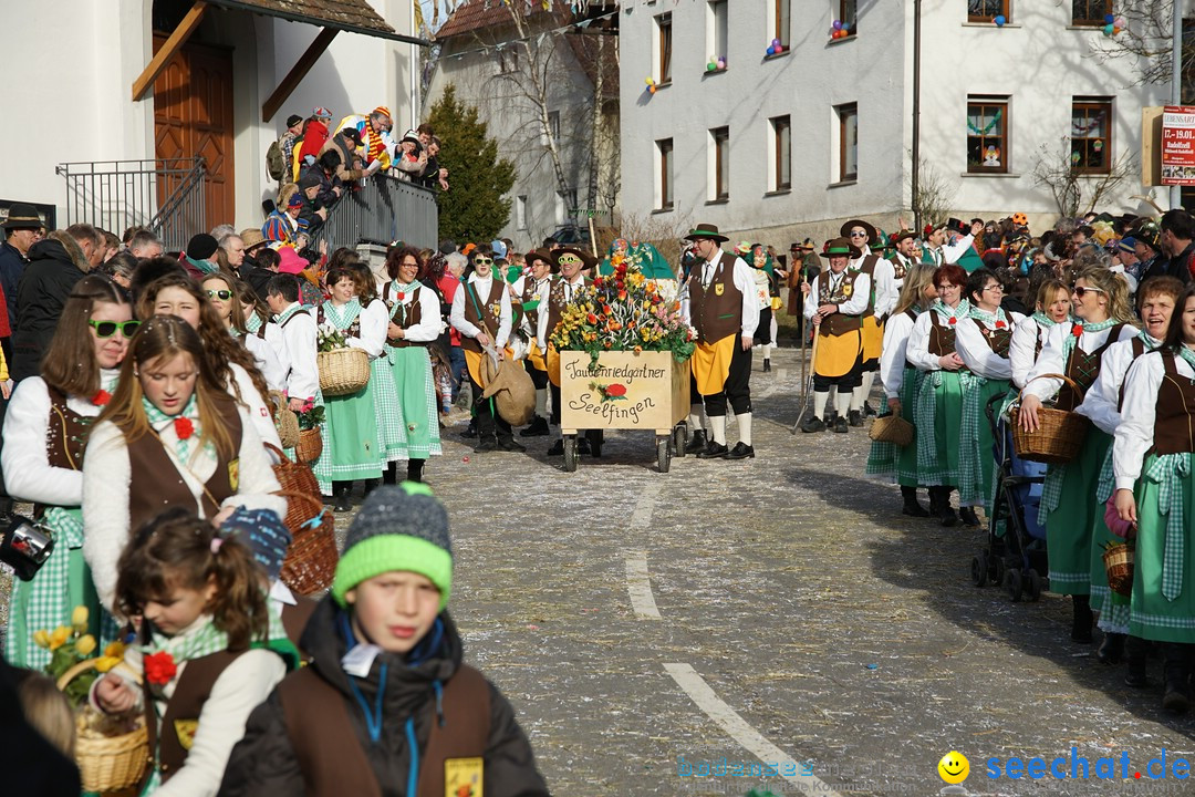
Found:
[[[894,486],[860,478],[865,429],[790,434],[795,350],[759,368],[754,460],[661,474],[649,433],[615,433],[564,473],[550,439],[474,454],[446,431],[429,478],[453,521],[452,611],[553,793],[929,795],[951,749],[972,793],[1110,793],[1124,785],[992,780],[985,761],[1074,747],[1092,777],[1117,756],[1121,780],[1122,752],[1129,779],[1163,748],[1190,756],[1190,722],[1163,716],[1159,691],[1068,640],[1068,603],[976,589],[981,532],[903,517]],[[679,774],[755,754],[796,773]]]

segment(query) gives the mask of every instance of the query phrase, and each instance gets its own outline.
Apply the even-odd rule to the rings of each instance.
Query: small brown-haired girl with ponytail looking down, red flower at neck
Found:
[[[122,614],[141,645],[96,682],[108,713],[145,712],[153,764],[141,795],[214,795],[253,706],[296,661],[262,588],[264,572],[237,535],[185,509],[141,527],[121,554]]]

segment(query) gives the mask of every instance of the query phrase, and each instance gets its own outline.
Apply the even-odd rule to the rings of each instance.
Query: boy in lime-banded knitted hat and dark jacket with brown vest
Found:
[[[430,489],[374,490],[304,631],[311,666],[250,716],[220,795],[546,796],[514,709],[461,663],[452,565]]]

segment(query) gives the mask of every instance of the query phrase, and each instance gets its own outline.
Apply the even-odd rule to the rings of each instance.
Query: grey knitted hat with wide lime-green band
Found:
[[[344,606],[347,591],[392,570],[427,576],[440,589],[441,611],[447,606],[452,591],[448,511],[425,484],[404,482],[369,493],[344,539],[332,597]]]

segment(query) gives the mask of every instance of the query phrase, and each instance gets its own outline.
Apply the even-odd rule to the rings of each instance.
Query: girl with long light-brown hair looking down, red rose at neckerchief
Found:
[[[214,522],[235,507],[286,514],[249,413],[216,380],[185,321],[159,315],[141,325],[84,464],[84,556],[105,607],[130,529],[161,511],[183,507]]]

